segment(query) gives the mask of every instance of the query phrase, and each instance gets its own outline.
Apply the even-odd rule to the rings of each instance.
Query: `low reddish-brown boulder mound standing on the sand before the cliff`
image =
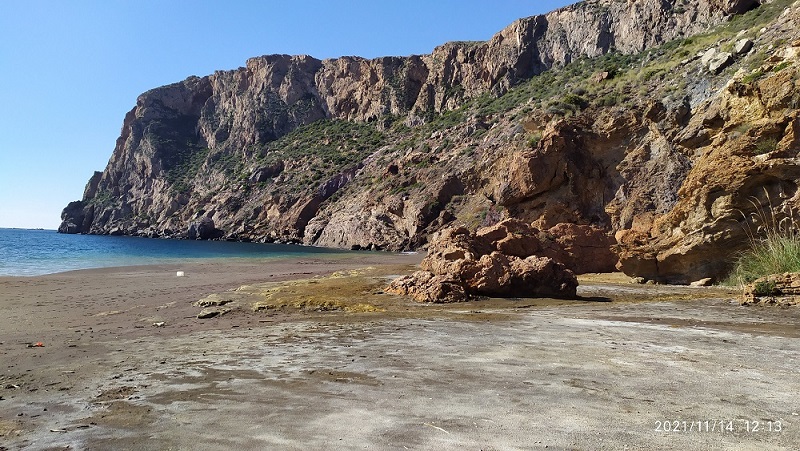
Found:
[[[469,296],[574,298],[572,271],[542,250],[530,225],[509,219],[475,234],[448,229],[434,240],[421,271],[401,277],[387,291],[418,302],[457,302]]]

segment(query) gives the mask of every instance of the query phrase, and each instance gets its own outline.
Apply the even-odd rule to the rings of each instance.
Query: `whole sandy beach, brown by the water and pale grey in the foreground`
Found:
[[[382,293],[418,260],[0,278],[0,449],[800,443],[797,309],[618,276],[583,278],[578,302],[426,306]],[[232,312],[197,319],[192,304],[212,293]],[[253,312],[259,301],[274,308]]]

